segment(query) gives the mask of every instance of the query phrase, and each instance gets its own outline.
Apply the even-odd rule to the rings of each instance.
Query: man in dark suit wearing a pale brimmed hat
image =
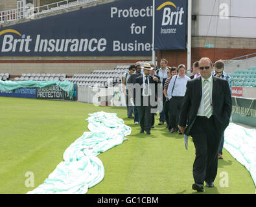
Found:
[[[143,65],[143,75],[135,78],[135,105],[138,106],[139,112],[139,124],[141,125],[140,133],[146,131],[147,135],[150,135],[150,129],[152,126],[152,106],[156,104],[155,91],[157,90],[157,83],[161,83],[160,80],[154,76],[150,76],[150,70],[152,67],[148,63]],[[159,84],[161,86],[161,84]],[[133,101],[133,100],[132,100]]]

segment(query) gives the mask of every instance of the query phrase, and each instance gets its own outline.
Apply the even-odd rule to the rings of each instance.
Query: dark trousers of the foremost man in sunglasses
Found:
[[[191,128],[191,136],[196,148],[193,164],[194,182],[204,184],[214,182],[218,169],[218,149],[221,134],[217,133],[213,116],[196,116]]]

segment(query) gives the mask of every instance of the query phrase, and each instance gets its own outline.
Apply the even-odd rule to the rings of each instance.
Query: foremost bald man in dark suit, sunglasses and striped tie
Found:
[[[218,168],[218,149],[232,111],[231,94],[226,80],[212,76],[209,58],[199,61],[201,77],[187,82],[181,106],[179,129],[191,135],[196,149],[192,189],[212,188]],[[186,127],[187,125],[187,127]]]

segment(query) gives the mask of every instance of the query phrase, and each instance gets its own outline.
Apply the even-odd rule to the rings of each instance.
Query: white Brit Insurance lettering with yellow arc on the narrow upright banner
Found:
[[[177,27],[183,25],[185,11],[182,6],[176,6],[172,1],[166,1],[156,9],[161,12],[161,34],[175,34]]]

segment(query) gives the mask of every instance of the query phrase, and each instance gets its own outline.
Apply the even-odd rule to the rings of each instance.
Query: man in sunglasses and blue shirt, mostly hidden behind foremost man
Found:
[[[215,70],[213,71],[213,76],[216,76],[218,78],[224,78],[225,80],[227,80],[227,82],[229,83],[230,93],[232,95],[231,77],[223,70],[224,70],[224,61],[217,60],[215,62]],[[218,152],[218,159],[223,159],[223,157],[222,157],[223,145],[224,145],[224,132],[222,134],[222,140],[220,142],[220,150]]]

